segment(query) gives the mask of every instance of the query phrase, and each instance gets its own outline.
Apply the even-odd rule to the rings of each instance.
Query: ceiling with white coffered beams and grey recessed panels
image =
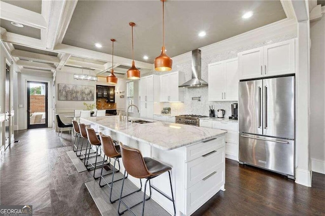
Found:
[[[252,17],[243,19],[249,11]],[[290,3],[277,0],[169,0],[165,3],[167,54],[174,57],[279,20],[294,19],[292,11]],[[118,76],[124,76],[132,62],[131,21],[136,23],[136,65],[143,75],[153,69],[162,46],[160,1],[0,0],[1,43],[21,72],[89,68],[98,76],[107,76],[114,68]],[[206,31],[205,37],[198,36],[200,31]],[[116,39],[114,64],[111,38]],[[103,47],[97,48],[95,43]]]

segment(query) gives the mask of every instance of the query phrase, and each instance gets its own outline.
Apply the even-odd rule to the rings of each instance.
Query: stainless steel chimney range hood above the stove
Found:
[[[192,51],[192,79],[179,87],[194,88],[208,86],[208,83],[201,79],[201,50]]]

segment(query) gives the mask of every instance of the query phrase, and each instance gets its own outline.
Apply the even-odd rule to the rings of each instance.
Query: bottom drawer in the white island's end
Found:
[[[220,190],[224,185],[224,170],[225,167],[222,166],[211,172],[205,180],[202,179],[196,185],[193,185],[189,189],[185,189],[186,215],[192,214]]]

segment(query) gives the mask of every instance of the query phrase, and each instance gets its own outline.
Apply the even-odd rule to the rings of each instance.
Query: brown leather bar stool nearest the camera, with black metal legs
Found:
[[[121,155],[122,155],[122,161],[123,165],[125,168],[124,171],[124,178],[123,178],[123,183],[122,183],[122,188],[121,188],[121,194],[120,194],[120,201],[118,204],[118,214],[121,215],[125,211],[129,210],[135,215],[135,213],[131,210],[131,208],[139,205],[142,203],[142,215],[144,214],[144,204],[146,200],[149,200],[151,198],[151,189],[154,189],[167,199],[173,202],[174,205],[174,215],[176,215],[176,208],[175,208],[175,200],[174,200],[174,193],[173,193],[173,186],[172,186],[172,178],[171,178],[171,170],[172,167],[160,163],[159,161],[156,161],[152,158],[149,157],[143,157],[141,152],[138,149],[133,149],[127,146],[124,146],[122,142],[120,142],[120,147],[121,147]],[[123,186],[124,186],[124,180],[125,180],[125,173],[128,173],[132,175],[135,178],[146,178],[146,183],[144,185],[144,194],[143,194],[143,201],[138,202],[137,204],[128,207],[125,202],[122,200],[122,193],[123,193]],[[163,174],[165,172],[168,172],[169,174],[169,182],[171,186],[171,191],[172,191],[172,197],[169,197],[167,194],[164,192],[160,191],[154,186],[151,186],[150,184],[150,179],[155,178],[159,176],[160,174]],[[149,189],[150,189],[150,196],[146,199],[146,189],[147,189],[147,183],[149,182]],[[141,185],[142,186],[142,185]],[[125,196],[124,196],[125,197]],[[126,210],[120,212],[120,205],[123,203],[123,205],[127,208]]]

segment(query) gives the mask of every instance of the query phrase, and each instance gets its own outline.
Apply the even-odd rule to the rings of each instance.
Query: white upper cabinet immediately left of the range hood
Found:
[[[184,88],[178,86],[185,83],[185,75],[181,71],[160,75],[160,102],[184,102]]]

